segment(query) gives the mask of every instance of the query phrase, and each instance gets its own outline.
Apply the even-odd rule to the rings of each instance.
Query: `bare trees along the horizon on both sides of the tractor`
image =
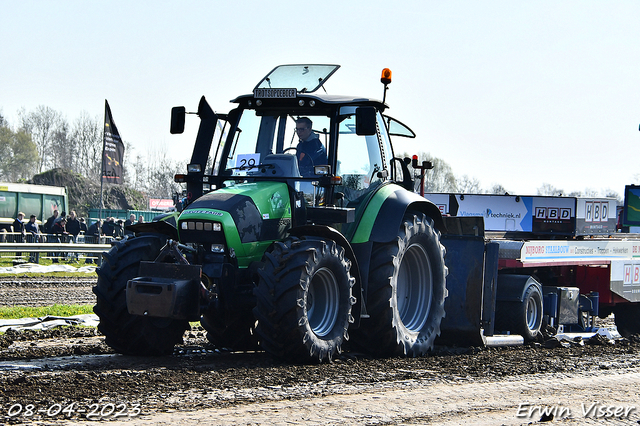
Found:
[[[59,112],[47,106],[32,111],[18,111],[18,123],[11,126],[0,111],[0,181],[25,182],[35,174],[56,168],[71,170],[95,182],[101,178],[104,124],[102,118],[82,112],[68,122]],[[171,198],[181,191],[173,180],[184,170],[167,157],[162,149],[146,156],[136,153],[128,141],[125,144],[124,183],[144,193],[147,198]],[[132,155],[133,153],[133,155]],[[404,156],[410,156],[405,154]],[[467,194],[505,194],[509,190],[501,184],[483,188],[480,181],[468,175],[457,176],[443,159],[429,153],[418,153],[419,162],[431,161],[425,180],[427,192],[455,192]],[[416,181],[416,190],[419,181]],[[537,189],[537,195],[599,196],[599,191],[564,193],[548,183]],[[607,190],[606,197],[621,200],[615,191]]]

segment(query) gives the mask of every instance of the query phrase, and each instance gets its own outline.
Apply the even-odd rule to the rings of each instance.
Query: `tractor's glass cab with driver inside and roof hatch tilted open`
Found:
[[[306,207],[354,208],[372,189],[395,179],[401,162],[393,161],[387,127],[404,128],[396,132],[403,136],[413,132],[383,116],[383,102],[320,90],[338,68],[281,65],[251,94],[234,99],[238,107],[225,116],[224,126],[217,126],[223,131],[218,130],[206,184],[214,189],[283,181],[293,194],[302,194]],[[307,219],[348,222],[347,217],[353,215]]]

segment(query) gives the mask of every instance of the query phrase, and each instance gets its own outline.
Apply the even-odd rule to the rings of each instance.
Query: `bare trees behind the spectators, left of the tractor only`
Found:
[[[104,123],[87,112],[69,122],[62,113],[41,105],[18,111],[9,123],[0,111],[0,181],[26,182],[52,169],[65,169],[99,182]],[[184,170],[163,150],[137,153],[124,140],[124,184],[147,198],[171,198],[181,188],[173,176]]]

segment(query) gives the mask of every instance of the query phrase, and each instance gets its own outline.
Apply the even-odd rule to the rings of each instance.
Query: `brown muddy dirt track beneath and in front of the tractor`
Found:
[[[19,284],[0,280],[0,301],[87,303],[91,285],[32,280],[14,291]],[[210,347],[199,327],[159,358],[114,354],[95,328],[9,331],[0,336],[0,423],[533,424],[548,420],[527,411],[542,404],[556,407],[555,423],[638,424],[640,338],[553,346],[290,365]],[[607,417],[607,406],[622,415]]]

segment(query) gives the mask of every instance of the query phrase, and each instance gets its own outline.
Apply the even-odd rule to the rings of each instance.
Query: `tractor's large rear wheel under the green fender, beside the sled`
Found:
[[[371,255],[367,312],[354,342],[377,356],[421,356],[433,349],[445,316],[444,247],[433,221],[405,214],[398,237],[375,244]]]

